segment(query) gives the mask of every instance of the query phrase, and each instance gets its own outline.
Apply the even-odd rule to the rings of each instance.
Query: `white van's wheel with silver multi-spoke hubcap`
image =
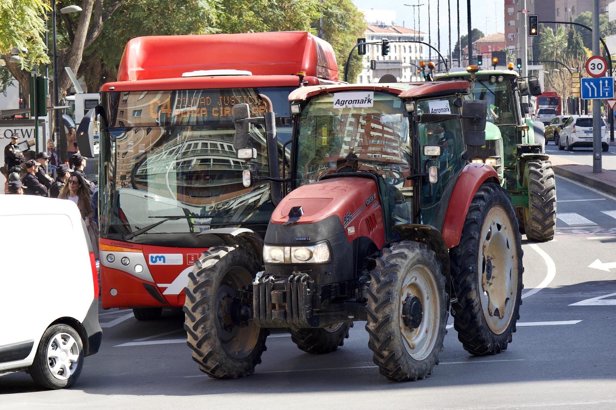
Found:
[[[29,368],[34,383],[43,388],[71,387],[83,367],[83,343],[75,329],[54,324],[44,332]]]

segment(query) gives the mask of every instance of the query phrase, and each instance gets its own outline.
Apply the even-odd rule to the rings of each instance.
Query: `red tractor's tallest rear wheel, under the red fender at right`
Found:
[[[458,340],[473,355],[500,353],[516,331],[524,268],[516,213],[496,183],[477,190],[450,262]]]

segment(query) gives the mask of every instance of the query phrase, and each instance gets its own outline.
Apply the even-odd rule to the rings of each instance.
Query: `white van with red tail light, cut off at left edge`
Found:
[[[0,195],[0,373],[28,371],[44,388],[75,383],[84,357],[100,347],[98,298],[75,203]]]

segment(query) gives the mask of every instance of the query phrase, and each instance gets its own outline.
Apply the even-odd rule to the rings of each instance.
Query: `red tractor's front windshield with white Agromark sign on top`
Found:
[[[298,125],[297,187],[334,172],[369,172],[386,182],[395,222],[408,223],[412,156],[400,98],[371,91],[320,95],[302,110]]]

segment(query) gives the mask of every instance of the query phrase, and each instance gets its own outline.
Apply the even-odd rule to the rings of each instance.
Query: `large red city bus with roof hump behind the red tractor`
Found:
[[[265,110],[260,95],[272,100],[274,152],[283,164],[283,152],[285,158],[290,152],[288,95],[300,82],[338,82],[333,48],[306,32],[128,42],[118,81],[101,89],[103,308],[132,308],[137,319],[158,318],[163,307],[184,305],[193,262],[221,243],[199,233],[246,227],[264,235],[275,204],[269,183],[242,184],[233,105],[248,103],[259,115]],[[251,143],[259,172],[267,175],[264,126],[254,125]]]

